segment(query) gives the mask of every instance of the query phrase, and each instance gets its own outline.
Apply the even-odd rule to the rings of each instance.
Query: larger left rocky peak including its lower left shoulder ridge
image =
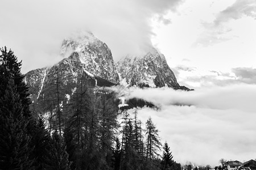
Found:
[[[90,86],[113,86],[119,83],[112,53],[108,46],[92,33],[80,37],[65,39],[61,46],[61,54],[71,52],[69,57],[48,68],[31,70],[25,74],[25,81],[32,101],[47,94],[48,88],[55,84],[71,95],[81,75],[86,76],[86,84]]]

